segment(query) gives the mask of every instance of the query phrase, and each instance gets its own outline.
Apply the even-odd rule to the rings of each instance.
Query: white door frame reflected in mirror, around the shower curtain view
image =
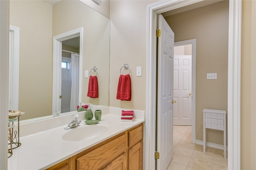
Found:
[[[83,27],[62,33],[53,37],[53,80],[52,80],[52,114],[61,110],[61,61],[62,61],[62,41],[80,36],[80,57],[79,57],[79,92],[82,92],[82,55],[83,55]],[[82,94],[79,93],[79,102]],[[71,112],[72,113],[72,112]]]

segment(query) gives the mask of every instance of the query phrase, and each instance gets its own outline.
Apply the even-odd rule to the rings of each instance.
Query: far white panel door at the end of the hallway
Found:
[[[173,125],[191,125],[192,56],[174,55]]]

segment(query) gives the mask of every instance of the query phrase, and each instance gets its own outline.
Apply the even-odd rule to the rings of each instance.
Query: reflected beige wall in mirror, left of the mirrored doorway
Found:
[[[12,0],[10,25],[20,27],[19,109],[26,113],[21,119],[49,115],[52,113],[52,5],[44,1]]]

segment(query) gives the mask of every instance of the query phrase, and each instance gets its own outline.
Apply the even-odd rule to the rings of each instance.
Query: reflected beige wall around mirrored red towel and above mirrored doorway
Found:
[[[66,11],[72,11],[67,13]],[[53,36],[83,27],[82,103],[108,106],[110,21],[80,1],[60,1],[53,6]],[[98,67],[99,98],[87,97],[84,70]],[[93,74],[95,75],[95,74]]]

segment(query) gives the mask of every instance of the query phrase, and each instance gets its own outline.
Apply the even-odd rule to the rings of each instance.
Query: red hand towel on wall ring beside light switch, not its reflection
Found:
[[[117,86],[116,99],[131,101],[132,90],[131,79],[129,74],[120,75]]]

